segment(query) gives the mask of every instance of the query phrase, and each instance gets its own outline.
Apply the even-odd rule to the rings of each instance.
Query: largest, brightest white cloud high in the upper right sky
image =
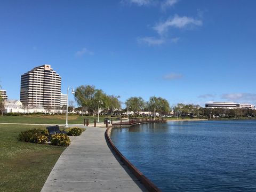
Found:
[[[189,17],[180,17],[179,15],[174,15],[172,19],[167,19],[165,22],[158,23],[154,30],[157,31],[158,34],[163,35],[169,29],[169,27],[175,28],[185,28],[187,26],[202,26],[203,22],[201,20],[189,18]]]

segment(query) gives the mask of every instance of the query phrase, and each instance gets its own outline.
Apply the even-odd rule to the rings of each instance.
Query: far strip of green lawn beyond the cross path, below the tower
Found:
[[[90,123],[94,122],[94,119],[98,117],[92,116],[68,116],[68,124],[83,124],[84,118],[90,119]],[[103,121],[105,117],[100,117],[100,121]],[[0,116],[0,123],[28,123],[28,124],[65,124],[66,115],[22,115],[22,116]]]

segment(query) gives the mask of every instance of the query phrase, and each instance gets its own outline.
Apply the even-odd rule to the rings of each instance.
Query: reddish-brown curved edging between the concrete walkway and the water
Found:
[[[122,162],[124,162],[124,164],[131,170],[131,172],[135,175],[135,177],[150,191],[150,192],[160,192],[161,190],[158,189],[158,187],[156,187],[154,185],[153,182],[151,182],[145,175],[143,175],[143,173],[141,173],[137,167],[135,167],[128,159],[125,158],[125,156],[123,156],[123,154],[116,148],[116,146],[114,145],[113,141],[110,139],[109,135],[111,132],[112,127],[109,127],[106,131],[105,131],[105,138],[107,140],[107,142],[109,143],[109,145],[111,146],[111,148],[115,151],[115,153],[118,155],[118,157],[121,159]]]

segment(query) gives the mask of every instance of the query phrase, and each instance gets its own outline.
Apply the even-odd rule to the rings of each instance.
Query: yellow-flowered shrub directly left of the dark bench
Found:
[[[48,135],[48,132],[44,129],[30,129],[21,132],[18,136],[18,140],[32,143],[45,143]]]

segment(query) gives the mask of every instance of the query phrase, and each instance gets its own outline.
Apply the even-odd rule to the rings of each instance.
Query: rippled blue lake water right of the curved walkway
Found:
[[[256,121],[141,124],[111,139],[162,191],[256,191]]]

